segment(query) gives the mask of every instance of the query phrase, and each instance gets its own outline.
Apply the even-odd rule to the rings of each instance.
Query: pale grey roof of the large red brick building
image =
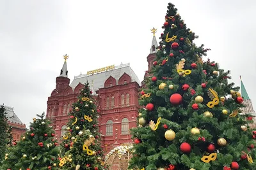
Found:
[[[104,87],[105,81],[109,78],[109,76],[113,76],[116,79],[116,84],[118,84],[119,78],[124,74],[128,74],[131,76],[131,81],[136,81],[139,85],[141,85],[138,76],[131,69],[130,64],[120,64],[120,66],[115,66],[115,68],[110,69],[108,71],[102,71],[94,74],[80,74],[79,76],[75,76],[74,80],[70,84],[70,87],[74,89],[79,83],[88,83],[90,84],[90,88],[93,90],[99,90]],[[92,85],[93,83],[93,85]]]

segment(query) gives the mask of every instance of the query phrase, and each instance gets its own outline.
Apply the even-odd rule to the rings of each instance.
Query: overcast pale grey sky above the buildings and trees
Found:
[[[147,2],[147,3],[146,3]],[[140,80],[147,70],[152,34],[157,41],[168,3],[211,48],[207,57],[242,76],[256,109],[256,1],[20,1],[0,0],[0,103],[29,125],[46,111],[47,97],[67,53],[68,77],[121,62]]]

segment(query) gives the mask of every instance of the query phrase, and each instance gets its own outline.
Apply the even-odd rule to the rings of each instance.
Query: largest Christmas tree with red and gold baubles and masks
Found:
[[[239,87],[228,83],[230,71],[193,43],[174,5],[168,4],[162,41],[145,89],[141,91],[139,127],[132,129],[131,169],[256,169],[256,131],[241,115]]]

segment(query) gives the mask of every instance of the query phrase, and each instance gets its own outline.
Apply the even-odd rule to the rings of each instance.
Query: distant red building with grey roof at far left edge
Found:
[[[6,117],[8,118],[8,124],[12,126],[13,140],[19,141],[20,136],[26,132],[26,125],[23,124],[19,117],[14,113],[12,107],[4,106]]]

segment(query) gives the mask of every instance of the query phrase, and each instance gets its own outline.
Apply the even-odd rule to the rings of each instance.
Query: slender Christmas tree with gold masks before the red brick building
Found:
[[[104,169],[98,114],[92,91],[86,83],[69,113],[62,143],[66,153],[60,161],[63,169]]]

